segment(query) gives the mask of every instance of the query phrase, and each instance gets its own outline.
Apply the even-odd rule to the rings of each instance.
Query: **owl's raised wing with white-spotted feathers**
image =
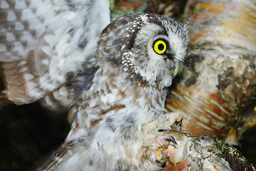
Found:
[[[93,65],[98,37],[108,23],[108,0],[1,0],[4,96],[17,104],[34,102],[82,65]]]

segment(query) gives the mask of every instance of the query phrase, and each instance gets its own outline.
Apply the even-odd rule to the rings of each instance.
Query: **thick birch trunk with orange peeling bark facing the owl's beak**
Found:
[[[237,145],[256,116],[255,1],[189,1],[186,16],[188,70],[173,86],[167,109],[183,114],[191,135]]]

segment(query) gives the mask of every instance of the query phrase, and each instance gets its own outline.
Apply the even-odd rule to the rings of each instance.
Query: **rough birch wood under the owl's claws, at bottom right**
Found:
[[[255,170],[232,146],[213,135],[195,137],[178,132],[168,133],[177,144],[163,150],[167,170]]]

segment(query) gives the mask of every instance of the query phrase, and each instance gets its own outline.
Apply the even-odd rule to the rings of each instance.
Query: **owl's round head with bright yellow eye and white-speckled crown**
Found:
[[[103,30],[97,61],[122,68],[140,85],[165,88],[183,66],[188,41],[186,24],[157,14],[127,14]]]

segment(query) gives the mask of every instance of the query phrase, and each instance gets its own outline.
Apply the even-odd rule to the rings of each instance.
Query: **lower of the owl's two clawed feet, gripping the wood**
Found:
[[[165,149],[168,149],[169,145],[178,145],[173,136],[164,136],[153,143],[153,160],[158,162],[162,167],[164,167],[166,163],[163,153]]]

